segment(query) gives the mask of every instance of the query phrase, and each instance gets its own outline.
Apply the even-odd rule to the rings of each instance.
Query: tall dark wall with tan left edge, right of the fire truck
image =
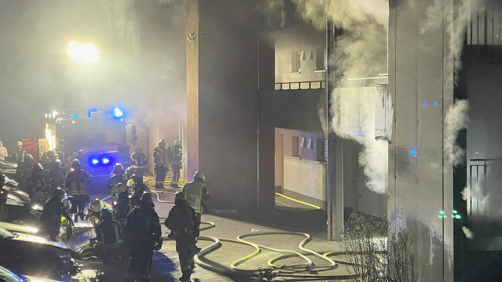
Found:
[[[204,172],[210,209],[254,210],[258,175],[255,23],[239,16],[245,15],[240,1],[186,3],[187,13],[195,13],[189,7],[198,3],[198,17],[187,15],[187,33],[191,28],[196,37],[187,41],[188,174],[197,169]],[[198,45],[198,50],[190,45]]]

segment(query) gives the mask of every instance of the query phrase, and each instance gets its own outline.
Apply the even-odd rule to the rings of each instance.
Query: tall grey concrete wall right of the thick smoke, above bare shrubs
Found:
[[[453,55],[446,30],[452,2],[434,6],[443,14],[431,20],[425,11],[438,3],[390,1],[389,82],[395,120],[389,146],[389,216],[395,225],[411,228],[423,280],[453,281],[453,168],[443,159],[443,118],[453,102]],[[437,24],[420,32],[426,21]],[[440,210],[448,217],[438,218]]]

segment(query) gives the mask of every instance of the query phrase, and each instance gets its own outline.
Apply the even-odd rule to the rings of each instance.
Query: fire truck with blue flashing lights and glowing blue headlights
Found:
[[[124,121],[117,107],[55,111],[47,114],[48,150],[62,151],[69,164],[78,159],[89,176],[111,175],[113,166],[129,166],[128,140],[136,136],[136,126]],[[43,154],[39,144],[40,154]],[[69,167],[69,166],[67,166]]]

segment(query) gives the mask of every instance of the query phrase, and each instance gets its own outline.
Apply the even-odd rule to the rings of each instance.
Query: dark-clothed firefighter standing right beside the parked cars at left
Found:
[[[64,191],[62,189],[58,188],[54,190],[51,199],[44,205],[42,215],[40,216],[41,231],[48,234],[51,240],[56,240],[59,235],[61,216],[71,221],[62,202],[63,196]]]

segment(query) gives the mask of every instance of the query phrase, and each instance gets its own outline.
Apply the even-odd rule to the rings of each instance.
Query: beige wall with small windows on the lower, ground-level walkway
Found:
[[[292,156],[293,136],[305,138],[301,157]],[[276,147],[276,173],[283,171],[284,194],[326,209],[326,164],[316,161],[316,143],[324,139],[323,134],[276,128],[276,140],[280,139],[283,150],[278,152]]]

